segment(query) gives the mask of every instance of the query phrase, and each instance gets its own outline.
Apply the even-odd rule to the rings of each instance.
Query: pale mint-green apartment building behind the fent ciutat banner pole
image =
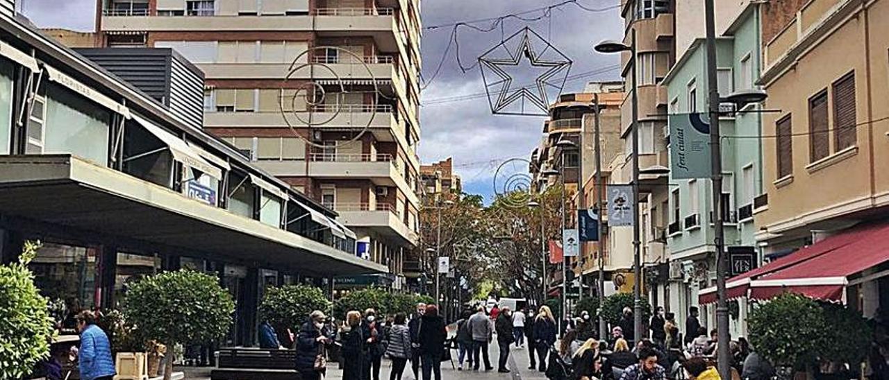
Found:
[[[717,85],[721,96],[756,87],[759,77],[760,40],[758,4],[748,4],[722,36],[717,37]],[[699,37],[677,60],[664,78],[671,115],[708,112],[707,44]],[[762,194],[762,145],[759,139],[763,113],[759,105],[733,109],[720,105],[726,113],[719,118],[722,139],[723,209],[725,249],[730,256],[747,255],[755,266],[760,260],[753,223],[754,199]],[[713,188],[709,178],[669,181],[669,221],[662,238],[669,246],[667,280],[652,289],[664,305],[687,310],[699,305],[701,289],[716,281],[716,230],[713,219]],[[655,231],[654,233],[657,233]],[[752,269],[749,268],[749,269]],[[701,305],[708,326],[715,321],[715,307]],[[747,307],[741,301],[739,313],[731,317],[733,336],[746,336]]]

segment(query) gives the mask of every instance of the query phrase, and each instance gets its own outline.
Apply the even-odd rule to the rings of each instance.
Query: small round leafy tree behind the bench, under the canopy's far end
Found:
[[[308,321],[308,314],[330,307],[321,289],[310,285],[284,285],[270,288],[260,302],[260,316],[276,329],[292,329]]]

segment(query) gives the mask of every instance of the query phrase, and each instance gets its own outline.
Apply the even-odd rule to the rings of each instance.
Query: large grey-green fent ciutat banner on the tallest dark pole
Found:
[[[669,115],[670,177],[709,178],[710,125],[702,114]]]

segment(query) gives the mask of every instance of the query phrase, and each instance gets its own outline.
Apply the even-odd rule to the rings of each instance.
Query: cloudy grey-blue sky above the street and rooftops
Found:
[[[19,0],[22,12],[36,25],[44,28],[72,28],[90,31],[94,25],[95,0]],[[527,158],[541,141],[542,123],[537,116],[492,115],[485,96],[485,82],[478,67],[465,74],[457,63],[459,51],[462,65],[475,65],[485,51],[501,43],[518,30],[529,27],[549,41],[558,51],[573,61],[564,91],[580,91],[585,83],[618,78],[618,70],[602,72],[603,68],[618,64],[617,56],[603,56],[592,51],[592,45],[603,39],[621,36],[621,19],[616,6],[620,0],[577,0],[589,9],[605,9],[601,12],[582,10],[576,4],[555,8],[549,17],[544,12],[530,12],[562,0],[425,0],[422,2],[423,76],[428,80],[441,69],[435,78],[425,83],[421,95],[420,159],[434,162],[453,156],[457,172],[468,193],[493,193],[493,174],[498,165],[513,157]],[[469,27],[459,28],[456,44],[453,42],[453,23],[469,22],[470,27],[491,28],[492,20],[508,14],[517,14],[525,20],[508,18],[490,32],[480,32]],[[450,50],[444,55],[450,42]],[[459,50],[456,46],[459,45]],[[535,46],[540,51],[544,49]],[[442,61],[442,57],[445,57]],[[601,74],[595,74],[597,71]],[[592,74],[591,74],[592,73]],[[525,85],[527,80],[516,83]],[[492,82],[490,76],[489,83]],[[551,94],[550,97],[554,97]]]

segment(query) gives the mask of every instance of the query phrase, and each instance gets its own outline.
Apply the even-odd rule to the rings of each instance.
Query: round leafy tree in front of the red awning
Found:
[[[804,368],[826,346],[829,326],[821,307],[810,298],[783,293],[759,305],[747,319],[750,344],[775,366]],[[851,333],[838,330],[839,334]],[[861,350],[863,345],[853,349]]]

